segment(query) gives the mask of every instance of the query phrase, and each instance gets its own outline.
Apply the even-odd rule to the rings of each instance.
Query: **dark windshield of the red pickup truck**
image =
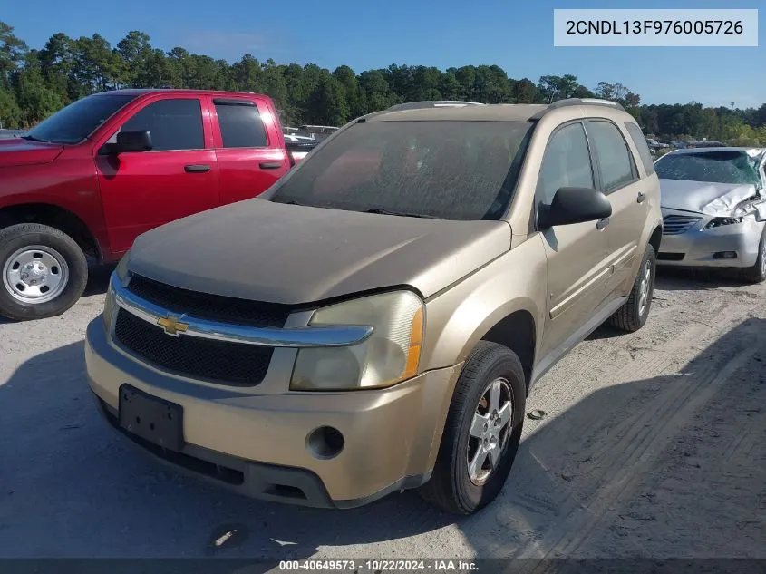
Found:
[[[96,131],[114,112],[136,96],[120,94],[91,95],[72,102],[50,118],[27,131],[25,139],[52,143],[77,143]]]

